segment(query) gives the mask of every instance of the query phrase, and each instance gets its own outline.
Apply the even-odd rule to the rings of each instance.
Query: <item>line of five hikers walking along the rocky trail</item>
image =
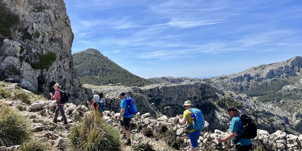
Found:
[[[52,93],[50,93],[50,97],[57,101],[57,107],[55,110],[53,122],[57,123],[57,118],[60,111],[64,120],[64,124],[68,124],[63,110],[64,104],[62,103],[63,96],[61,86],[56,83],[53,88],[55,89],[55,94],[53,95]],[[119,117],[117,117],[116,120],[119,122],[123,133],[121,138],[127,139],[127,141],[125,141],[123,144],[131,146],[130,121],[133,117],[133,114],[135,114],[136,112],[136,107],[132,98],[126,97],[125,92],[120,92],[119,98],[121,100],[120,115]],[[93,101],[88,99],[87,104],[90,110],[99,111],[100,116],[103,117],[104,109],[102,109],[102,107],[104,107],[104,102],[102,102],[102,104],[98,103],[99,101],[102,101],[100,100],[100,96],[93,95]],[[134,107],[130,105],[130,102],[134,105]],[[186,109],[183,113],[183,116],[181,117],[179,115],[176,115],[175,118],[179,121],[180,124],[187,124],[187,130],[190,137],[191,151],[199,151],[198,139],[201,135],[201,130],[204,129],[204,120],[202,113],[199,109],[192,108],[193,104],[190,100],[185,101],[183,107]],[[133,111],[132,108],[135,108],[135,111]],[[239,116],[237,108],[234,106],[230,106],[227,109],[226,113],[229,114],[231,119],[231,121],[227,124],[228,126],[230,126],[230,134],[228,134],[226,137],[216,137],[215,139],[217,139],[219,143],[232,140],[234,143],[234,151],[249,151],[252,148],[252,141],[251,139],[249,139],[249,137],[244,136],[245,129],[243,128],[243,121],[241,115]],[[201,126],[200,123],[202,123],[203,125]]]

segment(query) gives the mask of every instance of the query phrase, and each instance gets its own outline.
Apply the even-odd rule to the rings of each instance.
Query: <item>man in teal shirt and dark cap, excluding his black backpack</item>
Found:
[[[226,113],[228,113],[232,119],[231,123],[228,123],[228,125],[230,125],[230,134],[223,138],[216,137],[218,142],[221,143],[232,140],[234,143],[234,151],[249,151],[252,148],[252,140],[247,138],[239,138],[244,131],[237,108],[230,106]]]

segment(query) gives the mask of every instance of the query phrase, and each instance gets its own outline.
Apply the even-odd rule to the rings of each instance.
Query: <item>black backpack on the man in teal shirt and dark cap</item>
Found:
[[[235,141],[235,144],[241,139],[241,138],[247,138],[247,139],[253,139],[257,136],[257,126],[252,120],[251,117],[247,116],[246,114],[240,114],[240,117],[242,124],[243,124],[243,130],[244,132],[239,132],[242,133],[240,137]]]

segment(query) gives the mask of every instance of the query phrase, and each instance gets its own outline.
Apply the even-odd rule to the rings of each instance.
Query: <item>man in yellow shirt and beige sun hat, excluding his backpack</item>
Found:
[[[189,127],[192,123],[192,117],[191,117],[191,108],[192,108],[193,104],[191,103],[190,100],[185,101],[183,107],[185,107],[185,111],[183,114],[183,118],[180,119],[179,115],[176,115],[176,119],[179,120],[179,124],[181,125],[185,125],[187,123],[187,127]],[[198,146],[198,138],[201,134],[201,130],[195,130],[195,129],[191,129],[188,130],[189,131],[189,137],[190,137],[190,146],[191,146],[191,151],[199,151],[199,146]]]

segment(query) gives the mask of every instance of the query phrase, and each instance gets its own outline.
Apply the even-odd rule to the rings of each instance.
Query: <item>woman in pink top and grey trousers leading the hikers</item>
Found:
[[[54,100],[56,100],[57,102],[61,100],[61,86],[59,85],[59,83],[56,83],[53,88],[55,89],[55,95],[53,95],[51,92],[50,92],[50,97]],[[57,107],[56,107],[56,110],[55,110],[55,118],[53,120],[54,123],[57,123],[58,122],[58,116],[59,116],[59,111],[61,112],[61,115],[63,117],[63,120],[64,120],[64,125],[65,124],[68,124],[67,122],[67,118],[65,116],[65,113],[64,113],[64,109],[63,109],[63,106],[64,104],[58,104],[57,103]]]

